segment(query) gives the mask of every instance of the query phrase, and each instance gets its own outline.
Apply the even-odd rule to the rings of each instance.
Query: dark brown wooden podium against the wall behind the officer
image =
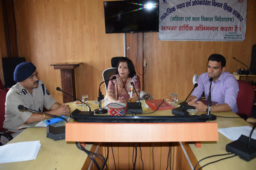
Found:
[[[74,68],[82,62],[66,62],[51,64],[54,69],[60,69],[62,90],[76,97]],[[62,93],[63,103],[76,101],[74,98]]]

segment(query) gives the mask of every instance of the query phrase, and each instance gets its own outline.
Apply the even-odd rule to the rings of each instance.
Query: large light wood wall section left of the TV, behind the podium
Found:
[[[50,64],[83,62],[74,70],[76,96],[97,100],[103,70],[124,56],[123,34],[106,34],[103,0],[14,2],[19,55],[37,66],[50,94],[62,102],[60,71]],[[101,86],[106,94],[105,86]]]

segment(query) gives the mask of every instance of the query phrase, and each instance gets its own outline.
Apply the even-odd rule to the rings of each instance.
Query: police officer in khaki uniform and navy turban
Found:
[[[49,113],[66,116],[70,113],[69,105],[59,104],[52,98],[44,83],[37,78],[36,67],[31,62],[23,62],[14,70],[16,85],[8,91],[5,102],[5,120],[3,128],[8,129],[14,137],[23,130],[18,130],[24,123],[33,123],[51,118],[45,114],[29,111],[21,112],[19,105],[29,109],[43,111],[43,106]]]

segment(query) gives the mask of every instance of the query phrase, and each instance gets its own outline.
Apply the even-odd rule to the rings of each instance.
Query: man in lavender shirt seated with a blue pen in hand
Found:
[[[224,72],[226,69],[226,59],[220,54],[212,54],[208,58],[207,73],[203,73],[199,76],[195,88],[189,98],[188,104],[194,106],[199,112],[206,112],[207,105],[203,102],[196,100],[203,94],[205,99],[208,99],[210,81],[209,78],[213,78],[211,86],[211,101],[218,102],[217,105],[211,106],[211,112],[238,112],[236,98],[239,91],[238,82],[236,78],[228,73]]]

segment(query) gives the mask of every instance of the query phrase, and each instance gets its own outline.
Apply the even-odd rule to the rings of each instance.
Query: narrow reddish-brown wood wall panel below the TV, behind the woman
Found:
[[[126,57],[132,60],[143,90],[143,33],[126,33]]]

